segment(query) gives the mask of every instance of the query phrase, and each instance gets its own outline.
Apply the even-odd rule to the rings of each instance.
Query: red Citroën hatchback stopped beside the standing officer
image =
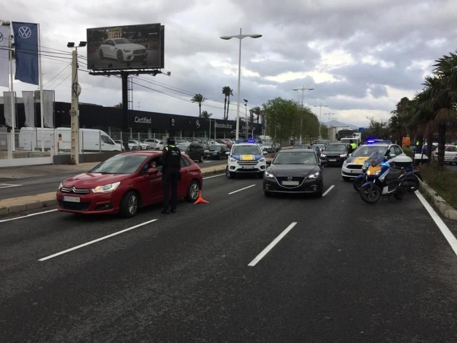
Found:
[[[97,165],[90,172],[62,181],[57,191],[59,211],[98,214],[119,213],[133,217],[139,207],[163,201],[161,151],[124,152]],[[200,168],[181,156],[178,196],[195,201],[203,186]]]

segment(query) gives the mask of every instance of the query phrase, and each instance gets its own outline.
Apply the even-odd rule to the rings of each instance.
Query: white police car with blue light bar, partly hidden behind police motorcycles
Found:
[[[362,173],[363,164],[373,152],[377,151],[378,153],[384,155],[388,149],[390,149],[390,157],[406,156],[400,146],[391,144],[390,141],[367,141],[367,144],[355,149],[351,156],[343,162],[343,166],[341,167],[341,177],[344,181],[349,181],[351,178],[356,177]]]

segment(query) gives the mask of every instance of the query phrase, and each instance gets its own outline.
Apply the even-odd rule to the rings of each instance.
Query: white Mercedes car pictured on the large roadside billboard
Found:
[[[107,39],[98,49],[100,59],[114,58],[118,62],[143,60],[147,56],[146,47],[141,44],[130,43],[125,38]]]

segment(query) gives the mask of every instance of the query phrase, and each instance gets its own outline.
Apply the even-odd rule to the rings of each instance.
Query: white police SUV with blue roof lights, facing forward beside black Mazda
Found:
[[[257,174],[262,177],[266,169],[266,160],[261,147],[253,139],[238,140],[227,152],[227,168],[225,175],[228,178],[236,174]]]

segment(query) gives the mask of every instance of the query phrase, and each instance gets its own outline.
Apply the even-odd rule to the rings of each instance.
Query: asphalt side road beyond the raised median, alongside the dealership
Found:
[[[205,160],[197,164],[200,168],[227,164],[226,160]],[[59,184],[67,177],[74,176],[75,172],[64,172],[61,174],[1,179],[0,180],[0,199],[8,199],[18,196],[31,196],[35,194],[57,191]]]

